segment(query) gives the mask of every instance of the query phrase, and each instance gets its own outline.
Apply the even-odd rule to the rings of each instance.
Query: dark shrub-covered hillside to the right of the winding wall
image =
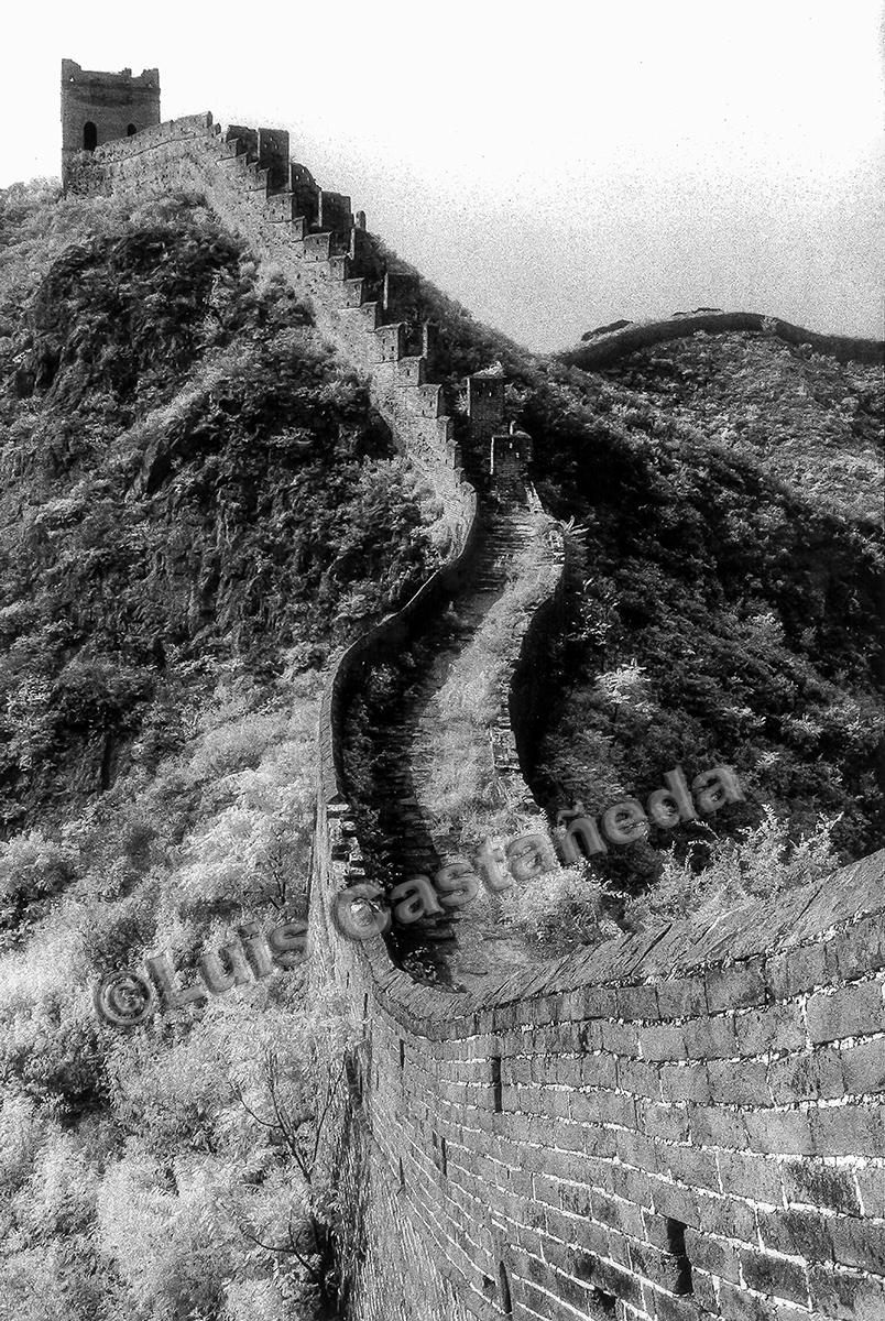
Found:
[[[881,376],[765,337],[696,337],[663,358],[548,380],[523,404],[544,436],[539,491],[585,528],[538,786],[553,811],[575,797],[596,812],[645,799],[678,764],[690,778],[726,764],[748,802],[717,832],[758,824],[765,804],[798,832],[840,816],[833,840],[859,856],[882,827],[881,527],[867,513]],[[653,830],[602,868],[649,881],[667,843]]]

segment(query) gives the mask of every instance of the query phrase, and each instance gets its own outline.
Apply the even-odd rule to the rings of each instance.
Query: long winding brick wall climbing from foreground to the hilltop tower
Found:
[[[346,1316],[884,1318],[885,852],[777,911],[671,923],[518,971],[489,939],[461,991],[415,980],[379,938],[345,939],[332,900],[371,880],[345,760],[354,695],[431,627],[457,664],[514,592],[515,551],[534,555],[535,588],[514,608],[483,737],[502,795],[546,828],[519,769],[524,676],[536,621],[555,618],[568,532],[539,510],[498,376],[466,382],[456,443],[419,281],[384,263],[349,198],[289,162],[285,133],[222,131],[210,115],[157,124],[70,155],[66,186],[203,194],[370,374],[446,511],[445,565],[337,658],[318,728],[312,958],[365,1020],[324,1151]],[[606,339],[618,334],[631,343]],[[580,357],[592,350],[573,361],[600,361]],[[461,625],[442,637],[452,601]],[[450,848],[421,799],[436,682],[428,671],[402,725],[374,734],[402,765],[379,786],[406,823],[395,848],[423,871]]]

